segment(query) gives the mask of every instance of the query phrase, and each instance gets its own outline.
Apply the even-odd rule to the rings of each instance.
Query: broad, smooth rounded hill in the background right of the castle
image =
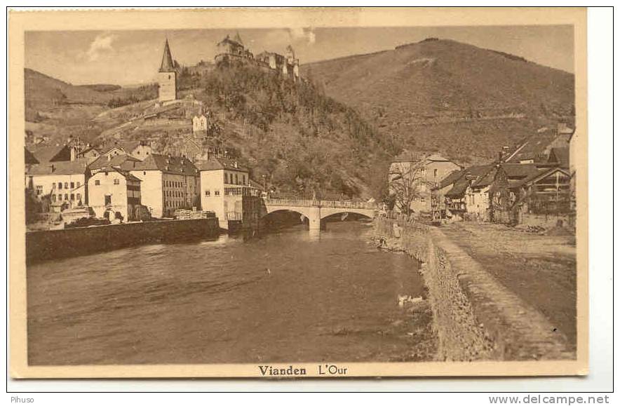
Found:
[[[461,163],[574,121],[574,75],[457,41],[314,62],[302,74],[403,147]]]

